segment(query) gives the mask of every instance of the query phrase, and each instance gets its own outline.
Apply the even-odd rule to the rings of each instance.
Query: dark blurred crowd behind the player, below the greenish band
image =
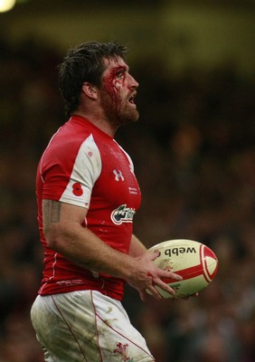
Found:
[[[66,120],[53,47],[0,42],[0,362],[41,362],[30,308],[42,275],[34,191],[39,157]],[[171,65],[171,64],[170,64]],[[255,79],[233,64],[175,74],[159,59],[131,64],[140,120],[119,129],[143,201],[147,247],[187,238],[217,254],[213,283],[189,300],[123,301],[157,362],[255,360]]]

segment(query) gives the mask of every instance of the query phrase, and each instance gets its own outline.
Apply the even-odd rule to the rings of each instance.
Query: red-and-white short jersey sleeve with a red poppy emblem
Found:
[[[73,152],[56,148],[42,157],[42,198],[89,208],[92,188],[101,172],[101,157],[90,135]]]

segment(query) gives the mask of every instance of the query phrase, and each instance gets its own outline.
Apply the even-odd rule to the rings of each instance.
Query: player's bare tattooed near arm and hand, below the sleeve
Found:
[[[87,212],[80,206],[42,200],[43,233],[48,246],[83,268],[126,280],[139,291],[142,300],[145,299],[146,289],[156,299],[161,299],[155,285],[170,293],[175,292],[161,278],[180,280],[180,277],[156,268],[152,261],[156,259],[157,252],[144,252],[137,257],[118,252],[82,226]]]

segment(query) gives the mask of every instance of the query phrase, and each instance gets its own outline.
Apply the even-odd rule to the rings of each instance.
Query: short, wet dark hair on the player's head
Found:
[[[80,104],[80,91],[85,81],[95,86],[101,85],[101,75],[105,69],[103,60],[115,57],[127,60],[127,48],[118,43],[81,43],[67,52],[58,66],[59,89],[68,116]]]

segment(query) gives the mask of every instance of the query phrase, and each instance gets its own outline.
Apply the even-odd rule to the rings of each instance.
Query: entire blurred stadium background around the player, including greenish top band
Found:
[[[140,120],[117,134],[143,193],[135,232],[147,247],[207,243],[220,261],[197,299],[142,303],[127,287],[130,318],[157,362],[254,362],[254,15],[253,0],[17,0],[0,13],[0,362],[43,360],[29,319],[35,170],[65,121],[56,65],[89,40],[125,43],[140,83]]]

